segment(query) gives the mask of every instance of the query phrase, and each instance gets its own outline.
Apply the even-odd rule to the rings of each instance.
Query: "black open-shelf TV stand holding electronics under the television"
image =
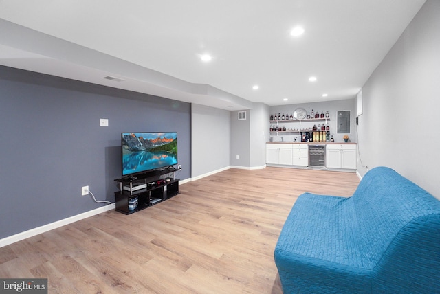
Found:
[[[175,171],[166,168],[115,179],[119,183],[119,191],[115,192],[115,210],[133,214],[179,194],[179,179],[175,179]],[[173,177],[165,177],[167,174],[173,174]]]

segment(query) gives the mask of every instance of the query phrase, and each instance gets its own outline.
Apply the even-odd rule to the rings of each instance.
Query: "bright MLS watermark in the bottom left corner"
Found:
[[[47,294],[47,279],[0,278],[0,294],[3,293]]]

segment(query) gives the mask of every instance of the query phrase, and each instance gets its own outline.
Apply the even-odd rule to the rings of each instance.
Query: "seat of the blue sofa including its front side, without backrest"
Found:
[[[275,249],[285,293],[371,289],[369,264],[364,264],[352,231],[357,226],[353,211],[348,198],[309,193],[298,197]]]

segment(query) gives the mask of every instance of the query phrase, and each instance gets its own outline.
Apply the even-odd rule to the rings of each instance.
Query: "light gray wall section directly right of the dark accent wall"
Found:
[[[230,166],[230,137],[230,111],[192,104],[192,178]]]

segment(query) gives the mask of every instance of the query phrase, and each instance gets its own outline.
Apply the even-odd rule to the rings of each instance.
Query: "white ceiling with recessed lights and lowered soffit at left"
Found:
[[[0,65],[228,110],[347,99],[424,2],[0,0]]]

